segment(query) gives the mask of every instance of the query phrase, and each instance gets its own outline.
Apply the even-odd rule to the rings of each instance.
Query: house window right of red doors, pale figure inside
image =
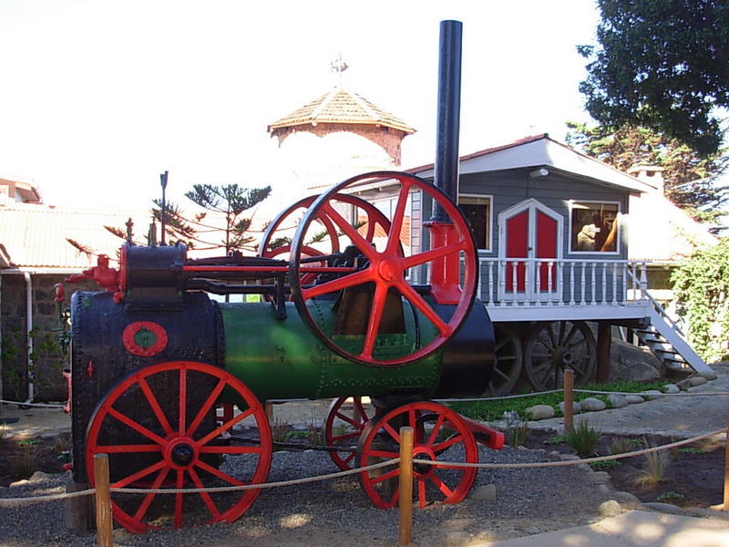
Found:
[[[617,253],[618,203],[570,202],[570,252]]]

